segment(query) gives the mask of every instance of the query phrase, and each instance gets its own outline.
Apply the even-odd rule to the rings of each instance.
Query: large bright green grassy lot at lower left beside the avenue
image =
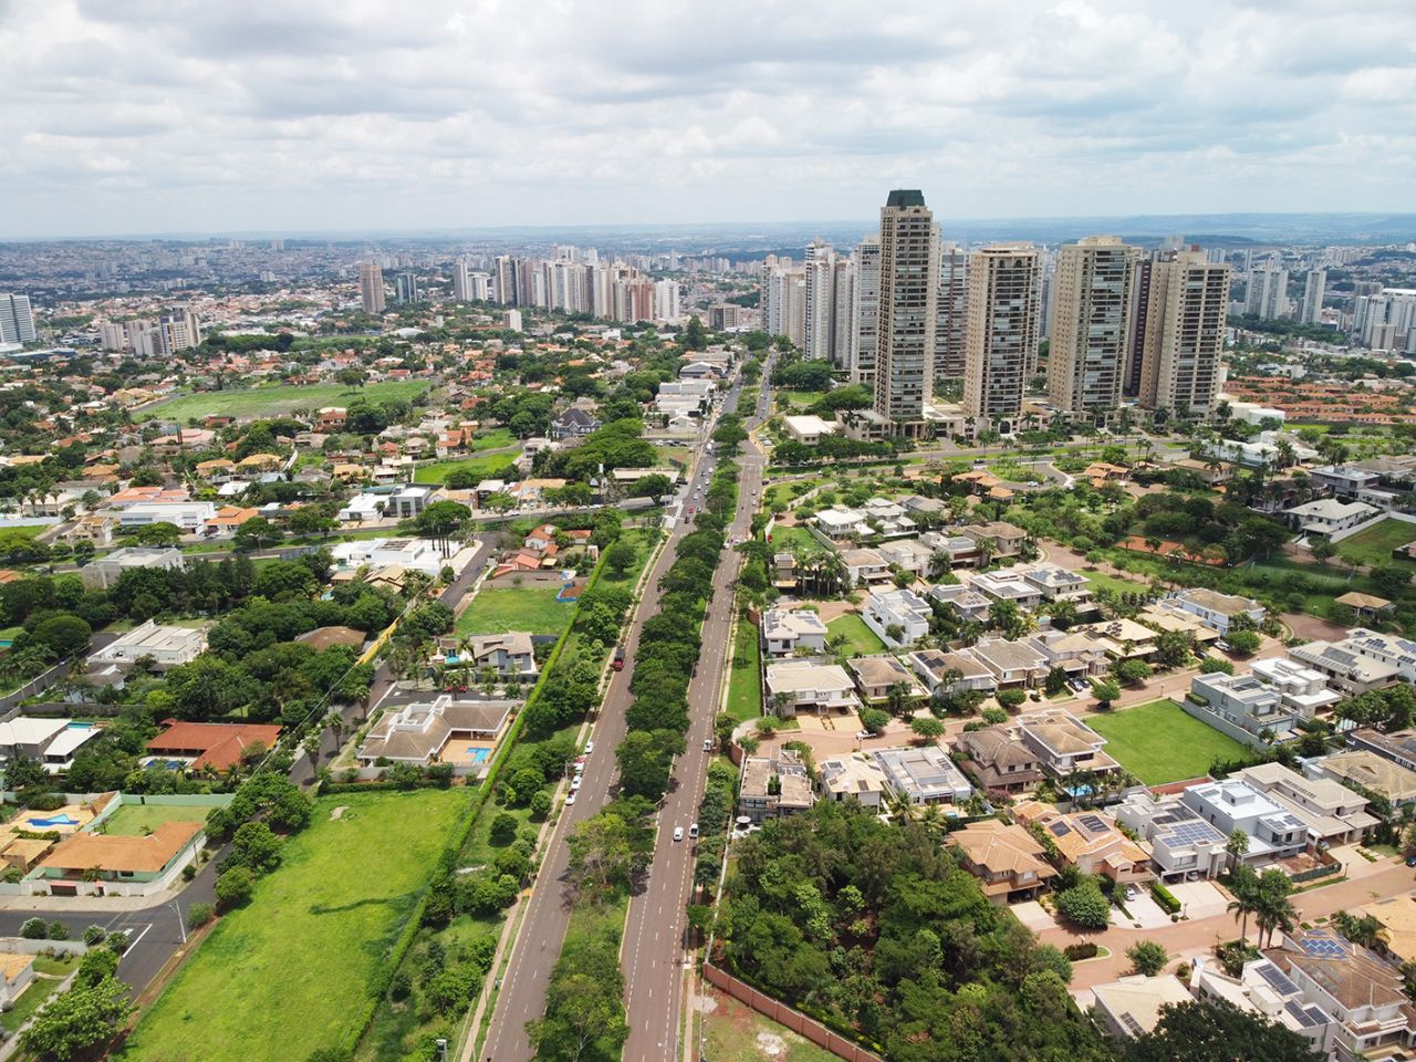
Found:
[[[221,920],[115,1058],[299,1062],[338,1046],[466,801],[462,789],[317,800],[283,865]]]

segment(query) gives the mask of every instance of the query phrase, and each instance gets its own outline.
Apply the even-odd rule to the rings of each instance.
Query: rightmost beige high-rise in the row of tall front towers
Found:
[[[1141,361],[1141,405],[1205,416],[1221,384],[1229,266],[1204,251],[1180,251],[1151,266]]]

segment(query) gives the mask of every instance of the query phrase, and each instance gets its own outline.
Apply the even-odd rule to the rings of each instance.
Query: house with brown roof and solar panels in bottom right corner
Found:
[[[1298,930],[1267,956],[1306,1003],[1337,1020],[1335,1046],[1342,1062],[1375,1058],[1383,1048],[1412,1042],[1416,1011],[1406,998],[1400,970],[1337,930]]]

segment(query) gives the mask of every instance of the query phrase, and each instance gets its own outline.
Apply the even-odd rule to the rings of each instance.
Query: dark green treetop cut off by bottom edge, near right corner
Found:
[[[1223,1000],[1165,1004],[1160,1024],[1124,1046],[1124,1062],[1323,1062],[1307,1037]]]

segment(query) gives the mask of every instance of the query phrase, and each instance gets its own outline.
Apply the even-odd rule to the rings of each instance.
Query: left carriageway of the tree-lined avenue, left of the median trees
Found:
[[[738,389],[733,388],[731,396],[724,404],[725,409],[731,409],[735,405],[736,394]],[[714,467],[714,459],[704,453],[684,493],[684,513],[690,507],[697,508],[692,497],[700,487],[707,489],[708,481],[712,479]],[[626,629],[622,640],[630,661],[634,660],[639,650],[639,636],[643,622],[658,612],[658,581],[674,562],[678,541],[690,530],[692,530],[692,524],[688,520],[678,521],[644,583],[644,596],[640,600],[634,620]],[[731,607],[731,586],[726,593],[715,596],[718,598],[715,606],[718,610]],[[579,823],[592,818],[610,800],[610,787],[616,783],[619,773],[615,749],[624,739],[624,714],[633,701],[629,691],[632,674],[633,667],[610,673],[609,688],[600,702],[599,716],[590,735],[595,750],[589,755],[585,765],[585,775],[581,782],[581,790],[576,794],[576,801],[562,807],[561,817],[547,841],[545,860],[541,864],[535,886],[531,891],[521,930],[511,946],[506,973],[501,977],[501,990],[491,1012],[487,1041],[481,1048],[480,1058],[487,1059],[487,1062],[493,1059],[496,1062],[530,1062],[534,1056],[531,1044],[527,1039],[525,1025],[545,1012],[545,994],[551,983],[551,969],[561,954],[561,944],[565,942],[565,930],[571,920],[571,898],[565,888],[569,850],[565,838]],[[700,666],[700,674],[702,674],[702,666]],[[711,712],[707,728],[711,732]],[[702,748],[704,735],[700,733],[700,729],[701,726],[695,724],[688,738],[690,750],[695,743],[700,749]],[[664,823],[668,820],[660,816],[660,821]],[[673,827],[670,827],[671,834]],[[683,848],[684,845],[678,847]],[[657,874],[657,864],[653,874]],[[678,913],[683,915],[683,910],[680,909]],[[470,1051],[472,1041],[469,1039],[463,1062],[473,1062]]]

